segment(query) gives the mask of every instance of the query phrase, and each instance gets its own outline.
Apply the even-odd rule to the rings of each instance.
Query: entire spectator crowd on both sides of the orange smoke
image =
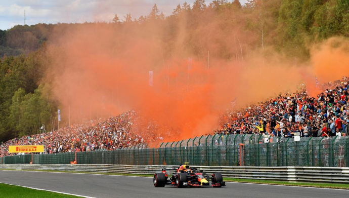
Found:
[[[349,135],[349,81],[319,85],[325,90],[316,98],[302,86],[296,93],[286,93],[223,114],[217,134],[265,134],[277,137],[346,136]],[[9,140],[1,145],[0,156],[6,156],[9,145],[45,145],[45,153],[116,150],[124,147],[162,142],[163,137],[180,133],[166,129],[156,122],[142,120],[137,111],[130,110],[108,120],[73,125],[56,131]],[[157,131],[161,132],[157,132]],[[161,134],[161,135],[160,135]]]

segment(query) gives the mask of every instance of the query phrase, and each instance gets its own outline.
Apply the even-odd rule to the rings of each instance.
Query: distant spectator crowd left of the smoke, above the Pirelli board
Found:
[[[9,140],[1,145],[0,156],[6,156],[10,145],[42,145],[46,153],[116,150],[144,143],[144,139],[131,132],[134,110],[110,117],[103,122],[73,125],[48,133],[40,133]],[[43,137],[42,137],[43,136]]]

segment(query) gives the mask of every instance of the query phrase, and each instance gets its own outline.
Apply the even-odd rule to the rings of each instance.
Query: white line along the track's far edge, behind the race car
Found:
[[[14,170],[2,170],[2,171],[14,171]],[[16,170],[16,171],[22,171],[22,170]],[[48,171],[24,171],[24,172],[64,173],[64,172],[48,172]],[[64,174],[84,174],[84,175],[103,175],[103,176],[114,176],[114,177],[116,176],[116,177],[151,178],[151,177],[141,177],[141,176],[104,175],[104,174],[93,174],[93,173],[64,173]],[[251,185],[267,185],[267,186],[283,186],[283,187],[295,187],[295,188],[315,188],[315,189],[326,189],[326,190],[346,190],[346,191],[349,191],[347,189],[337,189],[337,188],[320,188],[320,187],[292,186],[292,185],[278,185],[278,184],[260,184],[260,183],[245,183],[245,182],[231,182],[231,181],[226,181],[226,183],[251,184]]]

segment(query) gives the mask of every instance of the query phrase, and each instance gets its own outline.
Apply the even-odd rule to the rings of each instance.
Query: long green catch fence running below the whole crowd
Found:
[[[269,139],[263,136],[201,136],[113,151],[26,154],[2,157],[2,164],[178,165],[253,167],[349,167],[349,137]]]

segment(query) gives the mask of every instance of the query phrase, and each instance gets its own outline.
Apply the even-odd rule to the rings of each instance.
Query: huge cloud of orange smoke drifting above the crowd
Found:
[[[313,51],[314,67],[295,68],[293,61],[268,48],[232,60],[217,56],[217,43],[210,46],[206,40],[205,53],[184,50],[184,30],[170,45],[159,39],[164,32],[156,24],[139,28],[81,24],[62,31],[62,27],[56,27],[48,42],[50,69],[46,81],[53,85],[61,104],[63,123],[68,123],[69,108],[71,123],[135,108],[161,126],[157,133],[181,132],[177,137],[165,136],[165,140],[181,140],[217,127],[218,115],[230,108],[236,97],[237,106],[242,107],[285,90],[293,93],[302,81],[311,87],[315,85],[313,73],[320,82],[341,77],[342,72],[326,74],[333,65],[341,71],[349,69],[345,67],[349,58],[340,46]],[[206,35],[198,36],[200,40]],[[242,42],[243,36],[240,39]],[[227,41],[234,38],[227,35]],[[236,45],[240,52],[237,43],[231,50],[237,49]],[[212,54],[209,62],[208,49]],[[150,70],[154,71],[153,87],[148,85]],[[146,128],[147,124],[141,126]]]

